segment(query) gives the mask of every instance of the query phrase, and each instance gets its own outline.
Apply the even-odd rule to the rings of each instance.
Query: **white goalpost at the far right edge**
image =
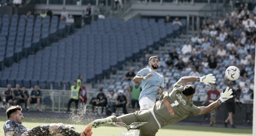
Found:
[[[256,44],[256,43],[255,43]],[[256,55],[255,55],[256,60]],[[256,136],[256,63],[254,64],[254,89],[253,89],[253,120],[252,120],[252,136]]]

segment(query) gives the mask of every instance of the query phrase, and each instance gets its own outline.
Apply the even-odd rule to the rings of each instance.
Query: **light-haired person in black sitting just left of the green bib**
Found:
[[[117,101],[116,101],[116,108],[118,107],[122,107],[123,108],[123,113],[124,114],[128,114],[127,110],[126,110],[126,103],[127,103],[127,98],[124,95],[124,91],[123,90],[118,90],[118,97],[117,97]],[[116,111],[114,111],[116,112]]]

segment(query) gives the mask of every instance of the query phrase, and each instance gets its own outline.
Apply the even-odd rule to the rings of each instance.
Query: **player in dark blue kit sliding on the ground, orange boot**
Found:
[[[8,121],[4,123],[5,136],[91,136],[91,124],[89,124],[81,133],[71,125],[48,124],[34,127],[32,129],[24,127],[22,124],[22,108],[11,106],[6,110]]]

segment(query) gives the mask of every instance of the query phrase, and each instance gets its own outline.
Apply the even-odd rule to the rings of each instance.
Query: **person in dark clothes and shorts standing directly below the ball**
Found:
[[[227,117],[227,119],[225,120],[224,125],[227,128],[227,123],[229,122],[231,125],[231,128],[236,128],[236,126],[234,126],[233,124],[233,117],[235,116],[235,110],[236,110],[235,98],[238,97],[238,94],[237,94],[237,91],[233,88],[234,83],[232,81],[229,81],[227,85],[229,86],[229,89],[232,89],[233,93],[231,95],[233,96],[233,98],[230,98],[229,100],[226,101],[225,106],[226,106],[227,112],[229,113],[229,117]]]

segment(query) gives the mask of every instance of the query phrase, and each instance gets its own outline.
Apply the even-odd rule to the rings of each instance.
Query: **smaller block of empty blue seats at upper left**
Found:
[[[60,24],[58,27],[58,23]],[[14,61],[18,61],[22,56],[27,56],[31,52],[36,52],[40,46],[45,47],[48,44],[48,38],[53,39],[59,30],[59,33],[65,28],[65,22],[59,22],[57,16],[46,16],[42,20],[41,16],[13,15],[11,21],[9,15],[4,15],[0,19],[0,63],[10,66]],[[0,69],[2,65],[0,65]]]

